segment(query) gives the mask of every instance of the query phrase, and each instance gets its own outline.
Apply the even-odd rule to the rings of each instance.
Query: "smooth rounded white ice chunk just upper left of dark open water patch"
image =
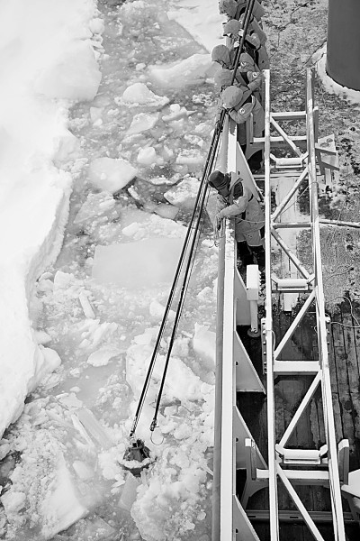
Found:
[[[96,158],[90,163],[89,179],[97,188],[114,193],[137,175],[129,161],[121,158]]]

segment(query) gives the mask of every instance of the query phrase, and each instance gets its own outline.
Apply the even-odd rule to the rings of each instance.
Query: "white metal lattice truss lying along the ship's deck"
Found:
[[[302,514],[302,518],[309,527],[312,536],[323,540],[319,528],[311,518],[309,510],[305,509],[293,485],[320,484],[329,487],[331,500],[331,511],[333,516],[334,538],[336,541],[345,541],[345,527],[342,498],[340,491],[340,475],[338,464],[338,445],[335,433],[334,414],[332,406],[332,395],[330,385],[329,371],[329,318],[325,314],[325,299],[323,294],[322,271],[321,271],[321,252],[320,252],[320,217],[318,206],[318,176],[316,165],[316,143],[317,143],[317,110],[313,103],[312,73],[307,72],[306,85],[306,111],[302,113],[306,122],[306,146],[303,150],[297,146],[294,138],[287,135],[277,121],[286,121],[292,119],[293,115],[286,113],[277,114],[276,120],[270,109],[270,78],[266,74],[266,134],[265,134],[265,183],[266,183],[266,318],[262,322],[264,338],[264,355],[266,358],[266,392],[267,392],[267,424],[268,424],[268,463],[269,463],[269,501],[270,501],[270,532],[272,541],[279,538],[279,509],[277,500],[278,482],[284,484],[285,489],[293,500],[295,506]],[[299,114],[300,117],[300,114]],[[271,127],[280,133],[284,144],[293,151],[295,158],[276,159],[272,148],[276,143],[273,141],[270,132]],[[280,128],[280,129],[279,129]],[[293,169],[293,177],[289,177],[288,195],[279,206],[272,211],[271,209],[271,172],[272,165],[277,168]],[[303,179],[308,180],[310,194],[310,221],[309,223],[286,223],[280,218],[284,215],[284,209],[299,193],[299,187]],[[290,181],[291,180],[291,181]],[[297,254],[286,245],[279,231],[286,228],[310,227],[312,243],[312,273],[305,269],[297,257]],[[288,260],[293,264],[297,277],[284,279],[275,277],[271,271],[271,250],[272,243],[277,243],[280,249],[286,254]],[[300,278],[301,277],[301,278]],[[275,333],[273,323],[272,293],[277,289],[284,292],[284,295],[297,292],[308,291],[309,296],[304,302],[302,309],[293,320],[291,326],[286,331],[280,344],[275,344]],[[302,318],[315,306],[316,312],[316,334],[318,340],[319,360],[317,361],[280,361],[284,346],[293,336],[297,326]],[[293,419],[284,431],[284,435],[278,444],[275,440],[275,378],[279,374],[287,374],[292,377],[302,377],[303,375],[313,375],[313,381],[310,389],[302,399],[302,402],[293,415]],[[320,449],[287,449],[286,444],[292,435],[294,428],[309,405],[310,400],[317,388],[320,386],[323,417],[326,433],[326,445]],[[344,443],[344,449],[347,448]],[[343,454],[340,454],[341,459]],[[286,468],[284,468],[286,466]],[[293,466],[293,469],[290,469]],[[302,468],[300,468],[302,466]],[[319,469],[318,469],[319,468]]]

